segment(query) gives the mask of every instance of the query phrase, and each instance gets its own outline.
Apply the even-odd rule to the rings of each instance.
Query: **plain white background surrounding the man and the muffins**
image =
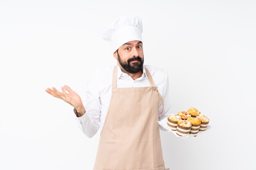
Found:
[[[0,169],[92,170],[99,133],[45,89],[67,84],[85,102],[92,69],[114,66],[101,34],[120,15],[143,22],[144,64],[168,72],[171,113],[198,108],[216,130],[161,131],[166,168],[253,170],[254,0],[1,0]]]

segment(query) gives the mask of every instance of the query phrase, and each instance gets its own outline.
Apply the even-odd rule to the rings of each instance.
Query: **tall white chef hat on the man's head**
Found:
[[[142,22],[139,17],[119,17],[115,22],[108,26],[103,33],[103,39],[111,42],[113,53],[120,46],[129,41],[142,42]]]

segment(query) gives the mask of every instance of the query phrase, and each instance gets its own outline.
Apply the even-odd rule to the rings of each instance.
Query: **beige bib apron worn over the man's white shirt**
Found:
[[[150,87],[117,88],[115,66],[94,170],[169,170],[164,167],[157,123],[163,99],[145,69]]]

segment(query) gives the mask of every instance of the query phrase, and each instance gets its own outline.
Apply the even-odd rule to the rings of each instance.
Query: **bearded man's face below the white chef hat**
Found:
[[[144,63],[142,42],[130,41],[123,44],[114,53],[114,57],[128,73],[139,73]]]

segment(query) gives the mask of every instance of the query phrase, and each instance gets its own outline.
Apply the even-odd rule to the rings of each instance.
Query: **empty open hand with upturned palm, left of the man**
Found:
[[[66,93],[64,88],[69,93]],[[72,89],[69,86],[64,85],[64,88],[61,87],[62,93],[57,91],[54,87],[52,87],[52,89],[47,88],[45,91],[53,97],[57,97],[59,99],[64,100],[65,102],[76,108],[76,110],[83,110],[84,106],[81,97],[76,92],[72,91]]]

